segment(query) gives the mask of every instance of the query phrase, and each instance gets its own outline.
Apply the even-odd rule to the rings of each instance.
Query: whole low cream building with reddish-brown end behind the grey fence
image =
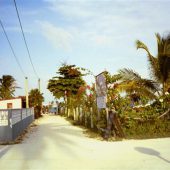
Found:
[[[25,96],[0,100],[0,109],[21,109],[21,108],[26,108]]]

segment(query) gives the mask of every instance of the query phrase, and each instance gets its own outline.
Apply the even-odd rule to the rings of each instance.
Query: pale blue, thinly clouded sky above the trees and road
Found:
[[[155,33],[170,32],[169,0],[16,0],[33,65],[41,79],[45,103],[54,100],[46,89],[63,62],[89,69],[94,75],[107,70],[116,74],[130,68],[149,78],[146,53],[136,40],[157,54]],[[0,77],[12,75],[25,95],[38,87],[24,45],[13,0],[0,0],[0,20],[24,70],[19,69],[0,27]],[[86,77],[88,83],[94,77]]]

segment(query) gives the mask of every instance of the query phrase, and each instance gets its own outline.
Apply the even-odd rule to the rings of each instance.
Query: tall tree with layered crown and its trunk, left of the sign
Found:
[[[84,73],[83,73],[84,72]],[[56,98],[63,98],[65,101],[68,116],[74,112],[74,105],[86,83],[83,76],[87,75],[87,70],[76,67],[75,65],[62,64],[57,72],[57,76],[49,80],[48,89]],[[75,117],[75,115],[72,115]]]

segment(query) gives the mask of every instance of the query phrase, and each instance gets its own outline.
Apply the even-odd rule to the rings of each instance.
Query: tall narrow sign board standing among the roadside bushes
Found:
[[[107,84],[104,73],[101,73],[96,76],[96,94],[97,107],[99,109],[106,108]]]

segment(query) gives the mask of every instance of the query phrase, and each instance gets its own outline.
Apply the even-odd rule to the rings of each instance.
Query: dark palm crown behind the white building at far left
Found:
[[[3,75],[0,78],[0,99],[13,97],[16,88],[15,79],[11,75]]]

